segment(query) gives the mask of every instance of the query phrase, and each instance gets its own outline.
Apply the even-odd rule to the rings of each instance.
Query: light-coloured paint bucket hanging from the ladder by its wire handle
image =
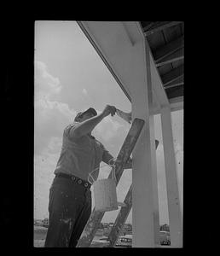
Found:
[[[96,211],[109,212],[118,210],[114,167],[112,169],[112,178],[96,180],[92,185]]]

